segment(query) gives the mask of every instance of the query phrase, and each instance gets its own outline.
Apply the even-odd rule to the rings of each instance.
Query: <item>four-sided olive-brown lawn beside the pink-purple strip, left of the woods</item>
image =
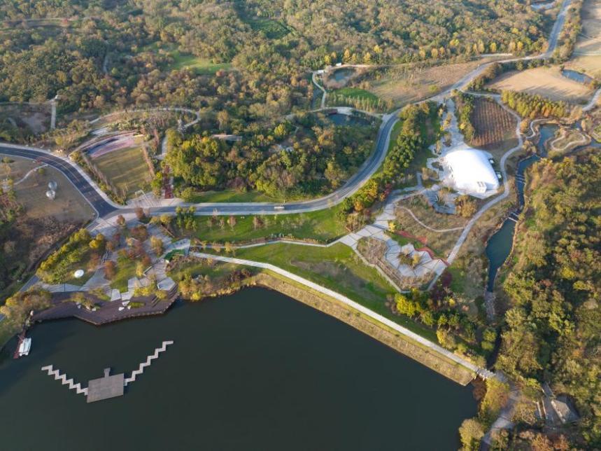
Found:
[[[139,147],[105,153],[93,162],[113,185],[125,190],[128,197],[150,183],[150,171]]]

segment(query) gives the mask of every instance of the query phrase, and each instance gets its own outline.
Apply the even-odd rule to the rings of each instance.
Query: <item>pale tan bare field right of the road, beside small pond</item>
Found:
[[[537,67],[525,71],[509,71],[489,83],[487,88],[511,90],[542,95],[552,100],[586,103],[593,90],[577,81],[563,76],[558,67]]]

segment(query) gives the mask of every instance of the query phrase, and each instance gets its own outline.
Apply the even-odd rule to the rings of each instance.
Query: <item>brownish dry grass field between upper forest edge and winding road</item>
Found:
[[[379,80],[371,81],[368,90],[383,100],[392,101],[395,106],[404,106],[450,88],[483,62],[488,59],[435,67],[404,64],[389,69]]]

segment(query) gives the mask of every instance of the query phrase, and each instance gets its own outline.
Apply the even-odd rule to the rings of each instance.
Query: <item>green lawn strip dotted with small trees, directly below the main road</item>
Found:
[[[322,242],[331,241],[347,233],[344,223],[337,218],[339,208],[336,206],[309,213],[260,216],[263,225],[256,229],[253,216],[235,216],[237,223],[234,228],[227,225],[227,217],[224,216],[220,217],[225,221],[223,228],[218,224],[210,227],[208,221],[211,218],[208,216],[197,216],[197,230],[194,235],[199,240],[208,242],[248,241],[282,235]]]

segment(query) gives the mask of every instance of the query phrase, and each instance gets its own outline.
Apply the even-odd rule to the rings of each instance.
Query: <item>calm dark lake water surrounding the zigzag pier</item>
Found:
[[[164,317],[35,326],[28,357],[0,363],[6,450],[456,450],[476,414],[461,387],[279,293],[248,289]],[[76,382],[129,375],[175,340],[125,396],[87,404]]]

